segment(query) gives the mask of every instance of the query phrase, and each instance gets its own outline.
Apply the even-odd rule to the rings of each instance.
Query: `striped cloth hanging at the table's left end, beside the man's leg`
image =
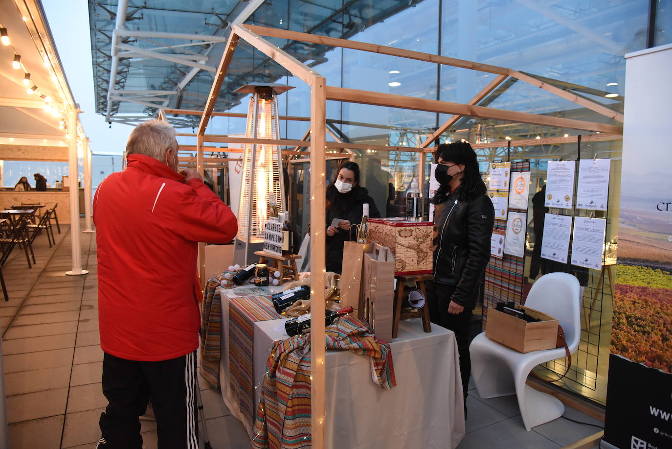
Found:
[[[200,363],[198,370],[214,388],[219,386],[220,345],[222,344],[222,303],[215,292],[224,281],[224,273],[208,279],[201,304]],[[225,287],[229,288],[229,287]]]

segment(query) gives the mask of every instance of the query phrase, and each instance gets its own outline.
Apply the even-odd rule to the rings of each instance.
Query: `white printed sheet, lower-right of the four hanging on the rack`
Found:
[[[607,220],[603,218],[575,217],[572,265],[601,269],[606,226]]]

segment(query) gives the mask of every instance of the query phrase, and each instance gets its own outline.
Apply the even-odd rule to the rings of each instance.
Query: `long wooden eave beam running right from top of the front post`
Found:
[[[622,134],[622,127],[605,125],[604,123],[585,122],[528,112],[515,112],[511,110],[487,108],[485,106],[472,106],[429,100],[427,98],[413,98],[403,95],[382,94],[380,92],[368,92],[366,90],[335,88],[327,86],[327,100],[341,102],[374,104],[376,106],[388,106],[390,108],[403,108],[413,110],[425,110],[429,112],[444,112],[445,114],[460,114],[470,117],[493,118],[514,123],[531,123],[548,127],[581,129],[585,131],[599,131],[601,133]]]

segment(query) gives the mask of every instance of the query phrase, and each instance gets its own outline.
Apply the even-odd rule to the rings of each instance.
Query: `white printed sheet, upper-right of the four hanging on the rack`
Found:
[[[596,211],[607,210],[611,166],[611,159],[582,159],[579,162],[577,207]]]

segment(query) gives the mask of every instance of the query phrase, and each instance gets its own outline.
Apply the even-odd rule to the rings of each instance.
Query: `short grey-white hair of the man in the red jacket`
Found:
[[[177,151],[175,128],[163,120],[147,120],[131,131],[126,154],[144,154],[165,163],[166,151]]]

